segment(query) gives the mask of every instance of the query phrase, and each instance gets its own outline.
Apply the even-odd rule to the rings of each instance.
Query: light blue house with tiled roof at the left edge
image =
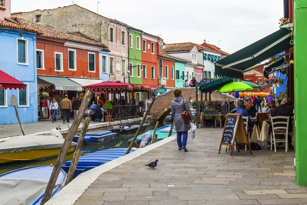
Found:
[[[0,19],[0,45],[0,70],[25,84],[24,90],[0,90],[0,125],[18,124],[11,95],[17,97],[21,122],[37,122],[36,31],[10,18]]]

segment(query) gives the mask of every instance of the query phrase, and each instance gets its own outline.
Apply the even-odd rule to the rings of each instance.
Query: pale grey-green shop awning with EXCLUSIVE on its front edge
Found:
[[[38,75],[37,78],[55,85],[55,90],[82,91],[82,85],[75,83],[67,77]]]

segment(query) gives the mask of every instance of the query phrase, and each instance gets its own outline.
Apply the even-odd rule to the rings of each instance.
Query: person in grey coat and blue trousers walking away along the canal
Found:
[[[187,152],[186,144],[188,139],[188,131],[190,130],[190,122],[185,123],[181,113],[184,109],[188,112],[190,116],[190,121],[194,122],[193,115],[191,113],[190,107],[187,100],[183,99],[180,89],[175,89],[173,91],[175,98],[171,102],[170,109],[171,114],[174,116],[175,127],[177,131],[177,144],[178,150],[184,150]]]

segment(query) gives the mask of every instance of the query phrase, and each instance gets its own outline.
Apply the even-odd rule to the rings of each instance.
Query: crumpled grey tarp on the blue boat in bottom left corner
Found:
[[[48,181],[33,179],[1,179],[0,205],[29,205],[45,192]]]

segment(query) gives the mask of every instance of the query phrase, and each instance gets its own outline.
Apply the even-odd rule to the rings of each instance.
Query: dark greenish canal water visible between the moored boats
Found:
[[[163,127],[163,124],[160,124],[159,127]],[[155,125],[148,126],[147,130],[153,130],[155,129]],[[95,146],[83,146],[81,155],[85,155],[88,153],[96,152],[98,150],[106,150],[111,148],[127,148],[128,147],[128,140],[133,138],[133,136],[117,136],[114,140],[107,142],[105,144],[101,145],[95,145]],[[65,157],[64,161],[71,160],[73,158],[73,152],[68,153],[68,155]],[[41,160],[35,160],[35,161],[25,161],[25,162],[11,162],[11,163],[5,163],[4,165],[0,165],[0,174],[21,169],[25,167],[33,167],[33,166],[41,166],[41,165],[54,165],[56,162],[57,157],[48,158],[48,159],[41,159]]]

